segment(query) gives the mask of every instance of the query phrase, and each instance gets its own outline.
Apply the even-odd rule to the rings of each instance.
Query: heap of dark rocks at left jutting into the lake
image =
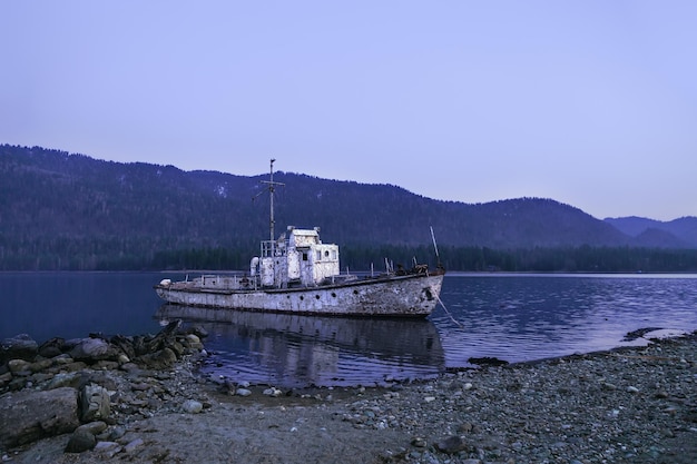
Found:
[[[0,447],[71,433],[66,452],[79,453],[118,438],[118,427],[109,426],[119,415],[147,417],[148,407],[158,406],[176,388],[167,385],[168,371],[205,354],[205,332],[180,332],[179,326],[173,322],[155,336],[92,334],[41,345],[28,335],[3,340]]]

